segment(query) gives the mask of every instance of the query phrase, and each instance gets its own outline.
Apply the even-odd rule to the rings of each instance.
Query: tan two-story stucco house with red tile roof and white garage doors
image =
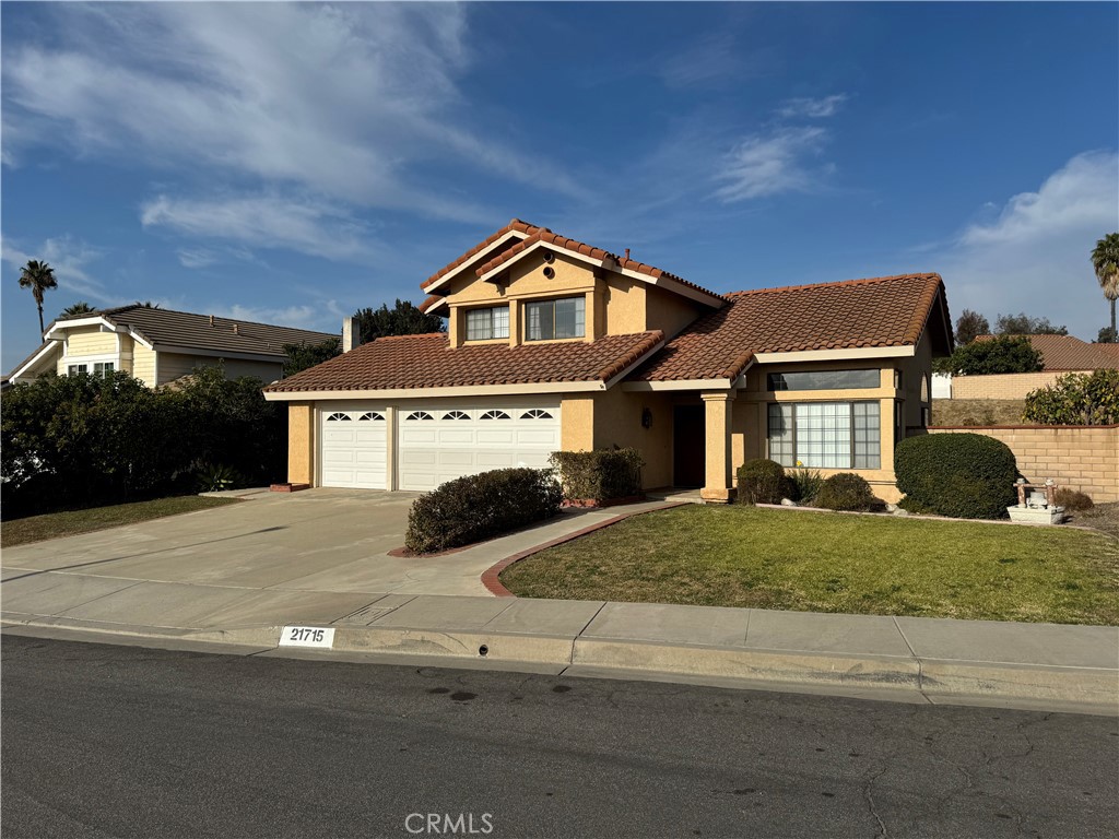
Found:
[[[647,488],[726,501],[771,456],[896,498],[895,441],[951,351],[937,274],[716,294],[514,219],[431,276],[445,333],[380,338],[265,388],[290,404],[289,480],[431,490],[633,446]]]

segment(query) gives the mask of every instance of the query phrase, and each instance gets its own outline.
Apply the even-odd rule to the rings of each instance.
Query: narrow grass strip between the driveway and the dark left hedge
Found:
[[[211,507],[237,503],[238,500],[236,498],[177,496],[175,498],[157,498],[153,501],[137,501],[110,507],[93,507],[86,510],[65,510],[43,516],[28,516],[0,525],[0,547],[10,548],[16,545],[26,545],[29,541],[87,534],[121,525],[134,525],[138,521],[177,516],[181,512],[208,510]]]

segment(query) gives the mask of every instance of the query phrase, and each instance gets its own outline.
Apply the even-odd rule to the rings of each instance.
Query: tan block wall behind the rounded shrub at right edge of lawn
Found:
[[[979,377],[971,377],[979,378]],[[985,377],[995,378],[995,377]],[[1097,503],[1119,501],[1119,425],[934,427],[930,434],[969,432],[1006,443],[1031,483],[1052,478]]]

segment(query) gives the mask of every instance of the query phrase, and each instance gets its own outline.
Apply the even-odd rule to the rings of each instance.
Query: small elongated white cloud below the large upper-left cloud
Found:
[[[345,208],[314,199],[273,195],[226,199],[159,196],[141,207],[140,220],[144,227],[169,228],[196,238],[284,248],[339,262],[367,262],[377,253],[366,225]],[[195,265],[184,261],[184,253]],[[216,258],[209,248],[179,252],[180,262],[188,267]]]

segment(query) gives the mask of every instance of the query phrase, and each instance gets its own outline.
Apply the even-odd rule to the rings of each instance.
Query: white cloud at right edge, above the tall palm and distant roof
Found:
[[[966,227],[929,264],[948,286],[952,312],[1025,311],[1085,340],[1109,320],[1092,272],[1097,239],[1119,227],[1119,155],[1078,154],[1034,192],[1006,200],[997,218]]]

